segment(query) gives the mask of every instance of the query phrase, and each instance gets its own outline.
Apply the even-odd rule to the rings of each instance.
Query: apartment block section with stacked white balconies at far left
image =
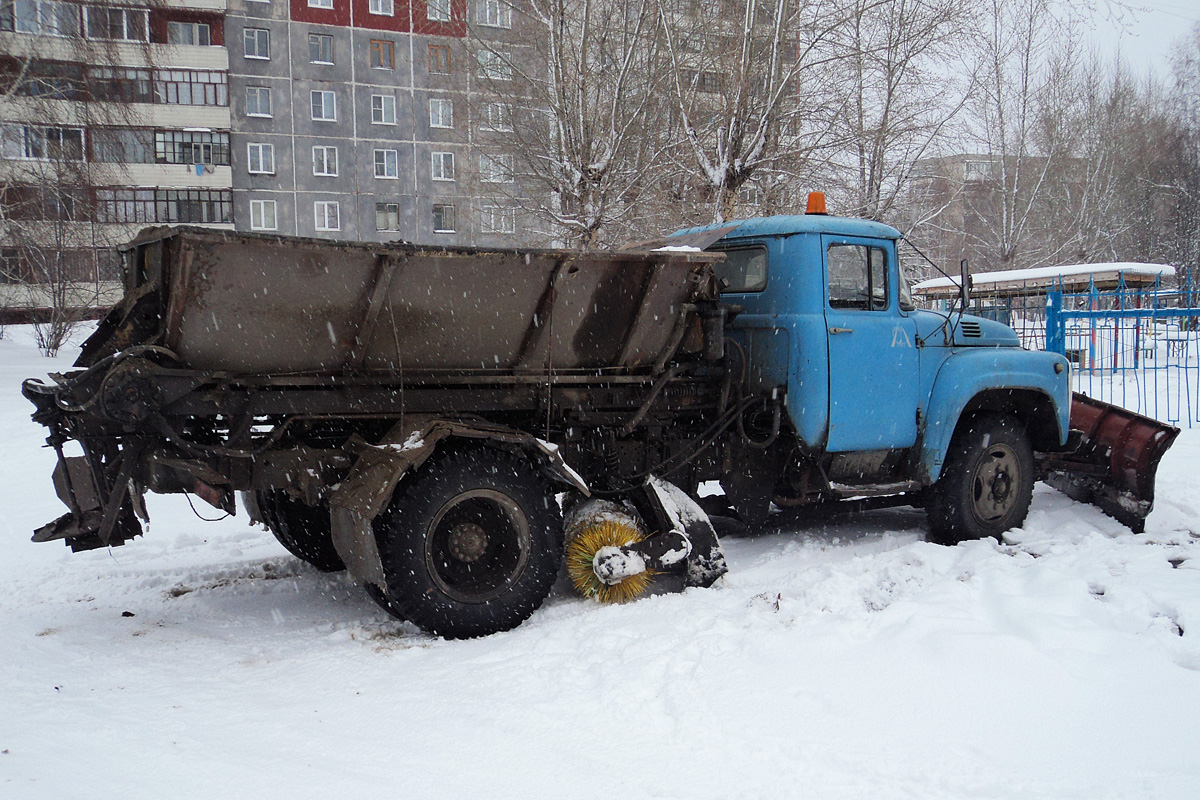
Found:
[[[146,225],[233,227],[224,25],[226,0],[0,2],[0,279],[112,279]]]

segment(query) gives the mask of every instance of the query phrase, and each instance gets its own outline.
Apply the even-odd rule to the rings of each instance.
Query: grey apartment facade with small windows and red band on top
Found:
[[[226,23],[239,230],[526,241],[508,2],[229,0]]]

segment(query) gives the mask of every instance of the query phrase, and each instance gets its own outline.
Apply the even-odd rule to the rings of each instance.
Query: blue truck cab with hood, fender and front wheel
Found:
[[[943,539],[962,539],[970,523],[974,535],[1002,533],[1027,510],[1032,451],[1067,443],[1067,361],[1022,349],[1000,323],[918,309],[900,239],[877,222],[815,213],[736,223],[708,247],[726,255],[722,301],[740,307],[731,350],[750,391],[784,396],[791,461],[821,479],[805,475],[804,487],[900,487],[919,493]]]

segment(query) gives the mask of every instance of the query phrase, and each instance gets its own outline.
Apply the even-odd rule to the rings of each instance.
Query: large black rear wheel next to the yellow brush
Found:
[[[527,461],[498,450],[430,462],[400,482],[373,524],[384,607],[448,639],[523,622],[563,561],[553,489]]]

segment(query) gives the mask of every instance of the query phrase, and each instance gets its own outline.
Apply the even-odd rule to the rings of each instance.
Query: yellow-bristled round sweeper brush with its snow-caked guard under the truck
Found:
[[[566,572],[581,595],[626,602],[661,572],[710,587],[728,571],[713,523],[683,489],[652,477],[626,500],[584,500],[568,513]]]

